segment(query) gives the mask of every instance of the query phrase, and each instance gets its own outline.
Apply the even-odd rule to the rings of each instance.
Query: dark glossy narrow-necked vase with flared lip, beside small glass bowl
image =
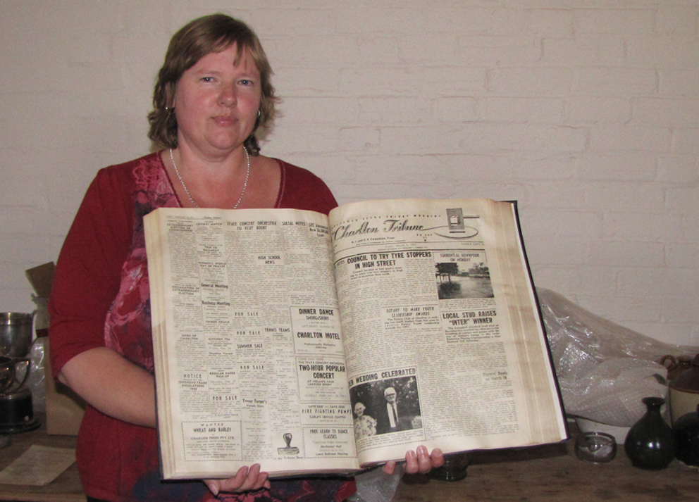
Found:
[[[665,400],[660,397],[643,398],[645,415],[626,434],[624,451],[634,467],[648,470],[664,469],[675,457],[672,429],[660,415]]]

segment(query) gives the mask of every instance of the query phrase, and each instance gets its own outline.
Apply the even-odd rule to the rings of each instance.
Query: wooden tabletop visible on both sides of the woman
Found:
[[[75,437],[49,436],[43,425],[32,432],[15,434],[10,446],[0,449],[0,469],[32,444],[75,448]],[[85,502],[85,494],[78,468],[73,464],[44,487],[0,484],[0,501]],[[393,501],[699,502],[699,470],[677,460],[660,471],[637,469],[626,458],[623,446],[610,463],[583,462],[574,455],[573,441],[567,441],[521,450],[473,453],[468,476],[458,482],[405,476]]]

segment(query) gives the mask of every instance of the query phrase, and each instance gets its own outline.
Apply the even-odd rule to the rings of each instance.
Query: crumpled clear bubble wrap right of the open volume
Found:
[[[600,318],[549,289],[536,293],[568,415],[630,427],[645,413],[641,399],[667,394],[662,356],[699,353]]]

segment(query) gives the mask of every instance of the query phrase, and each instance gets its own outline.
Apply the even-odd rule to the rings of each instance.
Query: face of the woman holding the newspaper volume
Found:
[[[204,158],[225,156],[252,132],[260,106],[260,73],[249,51],[237,65],[237,46],[212,52],[183,73],[173,106],[178,144]]]

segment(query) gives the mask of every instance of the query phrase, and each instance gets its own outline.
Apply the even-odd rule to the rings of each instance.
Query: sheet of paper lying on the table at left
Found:
[[[0,483],[49,484],[75,462],[75,448],[52,448],[32,444],[22,456],[0,472]]]

